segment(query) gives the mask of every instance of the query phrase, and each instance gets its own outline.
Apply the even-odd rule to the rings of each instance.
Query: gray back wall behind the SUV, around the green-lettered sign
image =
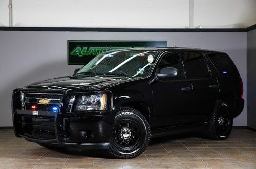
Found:
[[[246,32],[39,32],[0,31],[0,126],[12,126],[12,89],[28,83],[70,75],[79,66],[67,65],[67,40],[166,40],[168,46],[226,52],[244,82],[246,101]],[[245,102],[246,103],[246,102]],[[246,106],[234,119],[246,126]]]

